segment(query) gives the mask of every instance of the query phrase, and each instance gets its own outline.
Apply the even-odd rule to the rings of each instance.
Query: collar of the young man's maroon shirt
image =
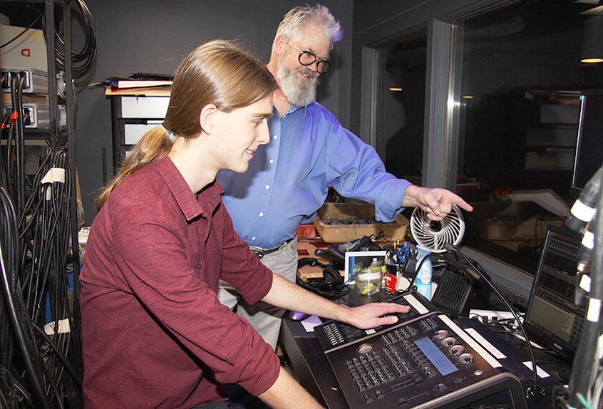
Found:
[[[161,177],[163,177],[165,184],[168,185],[168,189],[172,192],[178,207],[182,210],[187,221],[195,219],[199,215],[207,218],[220,204],[220,195],[223,190],[217,182],[207,185],[195,199],[195,195],[191,192],[184,177],[182,177],[182,174],[177,170],[177,167],[168,155],[158,159],[155,162],[155,168]]]

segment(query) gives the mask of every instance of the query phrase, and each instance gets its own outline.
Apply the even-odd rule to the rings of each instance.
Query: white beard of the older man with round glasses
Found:
[[[277,79],[281,86],[281,92],[287,100],[297,106],[306,106],[316,100],[316,87],[318,87],[318,78],[316,73],[308,67],[300,67],[295,71],[290,71],[284,67],[284,58],[279,58],[277,68]],[[304,73],[310,78],[304,80],[298,77],[298,73]]]

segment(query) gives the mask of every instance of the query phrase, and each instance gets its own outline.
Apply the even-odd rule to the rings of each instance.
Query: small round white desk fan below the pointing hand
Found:
[[[457,205],[439,222],[427,217],[427,212],[416,207],[411,215],[411,233],[418,245],[433,253],[443,253],[444,244],[456,246],[465,234],[465,220]]]

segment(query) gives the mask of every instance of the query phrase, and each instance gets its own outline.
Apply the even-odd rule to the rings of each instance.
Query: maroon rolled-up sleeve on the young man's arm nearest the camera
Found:
[[[239,383],[254,395],[274,383],[278,358],[247,321],[220,304],[192,268],[190,243],[180,227],[166,218],[121,218],[114,239],[116,262],[140,303],[213,371],[217,381]],[[259,263],[250,258],[242,262],[248,270],[256,269],[255,264]],[[268,274],[263,273],[249,299],[269,288]]]

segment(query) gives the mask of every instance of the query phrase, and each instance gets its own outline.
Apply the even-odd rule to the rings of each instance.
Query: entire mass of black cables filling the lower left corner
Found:
[[[79,326],[74,319],[77,302],[68,288],[66,267],[69,175],[66,152],[47,148],[19,219],[2,188],[3,276],[4,287],[11,289],[4,291],[0,309],[0,327],[9,329],[0,337],[3,408],[81,407],[80,347],[71,335]],[[47,316],[51,322],[44,325]]]

